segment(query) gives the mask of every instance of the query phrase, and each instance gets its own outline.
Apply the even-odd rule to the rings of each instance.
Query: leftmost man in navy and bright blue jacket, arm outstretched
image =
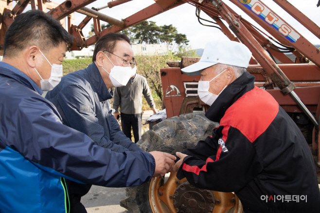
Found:
[[[139,185],[164,175],[175,157],[112,152],[62,124],[42,98],[62,76],[70,36],[39,10],[15,18],[0,62],[0,212],[69,211],[66,179],[106,187]]]

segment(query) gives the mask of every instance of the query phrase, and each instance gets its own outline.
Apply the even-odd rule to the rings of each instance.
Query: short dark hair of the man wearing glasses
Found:
[[[130,44],[130,38],[125,34],[107,33],[99,38],[94,47],[92,62],[96,61],[96,57],[99,51],[107,50],[109,52],[113,52],[114,48],[116,47],[117,41],[126,41]],[[111,55],[108,52],[106,53],[109,56]]]

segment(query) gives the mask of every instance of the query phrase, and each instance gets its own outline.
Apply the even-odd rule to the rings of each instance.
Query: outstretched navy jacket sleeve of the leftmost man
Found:
[[[12,108],[12,123],[0,135],[7,146],[52,175],[106,187],[140,185],[152,178],[151,154],[97,146],[84,133],[63,125],[53,104],[42,97],[22,98],[18,110]]]

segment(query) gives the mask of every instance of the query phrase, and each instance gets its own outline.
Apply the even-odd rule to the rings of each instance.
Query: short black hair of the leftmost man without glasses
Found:
[[[15,17],[5,33],[3,56],[13,57],[33,45],[46,52],[63,41],[72,44],[72,40],[59,21],[41,10],[30,10]]]

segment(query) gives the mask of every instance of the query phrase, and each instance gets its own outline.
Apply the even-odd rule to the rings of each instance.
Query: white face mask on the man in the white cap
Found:
[[[223,70],[219,75],[221,75],[226,70],[227,69]],[[215,79],[219,75],[215,76],[213,79]],[[212,82],[213,79],[210,82]],[[217,99],[218,96],[222,93],[222,91],[227,87],[227,86],[225,86],[223,88],[223,90],[218,95],[215,95],[215,94],[212,94],[211,92],[209,92],[210,82],[209,81],[199,81],[198,82],[198,96],[204,103],[208,104],[209,106],[211,106],[213,104],[215,99]]]

